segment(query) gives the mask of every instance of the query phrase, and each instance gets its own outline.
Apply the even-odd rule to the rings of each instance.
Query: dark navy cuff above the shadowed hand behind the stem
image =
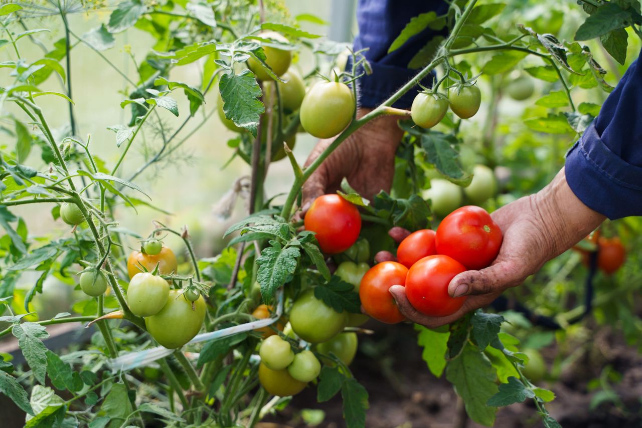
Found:
[[[372,67],[372,74],[361,76],[358,80],[357,93],[361,107],[377,107],[419,73],[419,70],[410,70],[377,62],[371,62],[370,67]],[[431,73],[420,83],[424,87],[431,87],[432,81],[433,74]],[[420,89],[419,86],[415,86],[408,90],[392,107],[410,108],[417,91]]]

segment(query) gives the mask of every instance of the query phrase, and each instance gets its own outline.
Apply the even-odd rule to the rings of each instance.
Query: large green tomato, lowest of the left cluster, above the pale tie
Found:
[[[147,331],[160,345],[180,348],[189,342],[205,321],[205,299],[189,302],[181,296],[182,290],[169,290],[167,303],[155,315],[145,318]]]

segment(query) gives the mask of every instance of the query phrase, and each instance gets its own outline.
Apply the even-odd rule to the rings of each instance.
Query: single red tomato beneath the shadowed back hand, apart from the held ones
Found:
[[[312,203],[304,225],[306,230],[316,232],[324,253],[337,254],[356,243],[361,216],[357,207],[338,194],[324,194]]]

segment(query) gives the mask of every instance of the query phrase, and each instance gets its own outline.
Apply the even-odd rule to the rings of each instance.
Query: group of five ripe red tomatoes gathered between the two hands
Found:
[[[327,219],[333,221],[329,222]],[[306,230],[316,232],[322,251],[328,254],[347,249],[359,252],[356,244],[361,219],[358,209],[336,194],[317,198],[308,210]],[[502,234],[488,212],[467,206],[454,210],[437,231],[417,230],[399,244],[398,261],[383,261],[370,268],[358,255],[343,262],[337,275],[356,284],[361,305],[369,316],[385,323],[398,323],[405,317],[399,311],[390,287],[404,286],[410,303],[429,316],[447,316],[464,304],[465,296],[451,297],[450,281],[466,270],[490,265],[499,253]],[[357,264],[359,263],[359,264]]]

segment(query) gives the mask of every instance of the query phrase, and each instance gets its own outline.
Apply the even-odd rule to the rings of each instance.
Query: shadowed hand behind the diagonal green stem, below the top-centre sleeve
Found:
[[[370,109],[360,108],[361,117]],[[379,191],[390,191],[395,171],[395,152],[403,136],[399,117],[381,116],[365,124],[333,151],[303,185],[302,212],[318,196],[335,193],[343,177],[361,196],[372,200]],[[305,166],[309,166],[334,141],[319,140]]]

